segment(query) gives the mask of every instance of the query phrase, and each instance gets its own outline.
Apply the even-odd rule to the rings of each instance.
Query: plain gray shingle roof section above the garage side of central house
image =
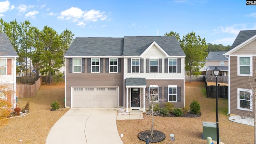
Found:
[[[122,56],[124,38],[75,38],[65,56]]]

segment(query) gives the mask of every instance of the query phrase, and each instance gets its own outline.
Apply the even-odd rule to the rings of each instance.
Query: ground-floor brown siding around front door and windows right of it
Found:
[[[162,88],[162,98],[164,97],[164,87],[168,87],[168,85],[177,85],[177,87],[180,87],[180,102],[172,102],[175,106],[175,108],[183,108],[184,107],[184,80],[146,80],[147,87],[150,85],[158,85],[158,87]],[[160,93],[160,92],[159,92]],[[130,107],[130,88],[129,88],[129,107]],[[167,100],[165,100],[167,102]],[[126,107],[126,88],[125,88],[125,98],[124,98],[124,105]],[[164,107],[164,102],[159,102],[159,105],[161,107]],[[143,88],[140,88],[140,106],[143,108]],[[146,106],[147,107],[147,106]]]

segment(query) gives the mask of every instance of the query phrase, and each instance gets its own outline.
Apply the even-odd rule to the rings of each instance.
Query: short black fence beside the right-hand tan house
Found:
[[[207,98],[216,98],[216,85],[208,86],[207,78],[205,79],[205,88],[206,88]],[[217,88],[218,88],[218,98],[228,99],[228,86],[220,86],[220,84],[218,84]]]

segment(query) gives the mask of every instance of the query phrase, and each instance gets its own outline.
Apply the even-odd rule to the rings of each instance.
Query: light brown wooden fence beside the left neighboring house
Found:
[[[16,84],[16,96],[18,98],[34,98],[42,82],[40,77],[35,84]]]

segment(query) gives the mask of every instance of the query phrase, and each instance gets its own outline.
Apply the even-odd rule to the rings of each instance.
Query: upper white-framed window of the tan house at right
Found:
[[[238,76],[252,76],[252,57],[238,57]]]

